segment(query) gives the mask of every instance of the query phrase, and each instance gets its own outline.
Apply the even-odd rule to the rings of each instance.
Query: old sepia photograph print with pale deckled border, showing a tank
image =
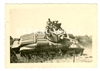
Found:
[[[6,24],[9,64],[96,63],[97,4],[6,4]]]

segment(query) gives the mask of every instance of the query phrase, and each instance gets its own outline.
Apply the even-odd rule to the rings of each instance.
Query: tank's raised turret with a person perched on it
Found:
[[[60,42],[60,40],[65,37],[67,38],[65,30],[61,28],[61,23],[58,23],[58,21],[51,21],[49,19],[47,24],[45,35],[48,40],[52,42]]]

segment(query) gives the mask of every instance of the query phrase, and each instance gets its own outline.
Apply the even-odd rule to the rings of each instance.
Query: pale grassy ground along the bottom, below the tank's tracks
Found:
[[[85,48],[83,55],[77,55],[75,56],[75,62],[92,62],[92,49],[91,47]],[[57,55],[53,59],[51,57],[39,57],[39,56],[32,56],[31,59],[28,59],[27,57],[20,57],[19,54],[17,54],[18,57],[18,63],[65,63],[65,62],[73,62],[73,56],[65,55]]]

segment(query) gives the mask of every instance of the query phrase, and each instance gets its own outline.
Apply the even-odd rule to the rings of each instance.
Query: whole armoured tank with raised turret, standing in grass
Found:
[[[57,53],[65,54],[69,50],[75,50],[76,53],[82,53],[84,49],[77,46],[77,43],[73,42],[75,37],[68,35],[66,31],[61,27],[61,23],[58,21],[51,21],[48,19],[45,32],[37,32],[22,35],[18,39],[17,46],[12,46],[16,53],[20,53],[21,56],[33,54],[33,55],[55,55]],[[72,45],[76,45],[73,47]]]

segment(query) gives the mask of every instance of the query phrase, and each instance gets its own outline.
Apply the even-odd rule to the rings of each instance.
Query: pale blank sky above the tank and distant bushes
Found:
[[[67,33],[92,35],[97,25],[96,4],[57,4],[20,6],[10,10],[10,35],[14,38],[44,31],[48,18],[58,20]]]

